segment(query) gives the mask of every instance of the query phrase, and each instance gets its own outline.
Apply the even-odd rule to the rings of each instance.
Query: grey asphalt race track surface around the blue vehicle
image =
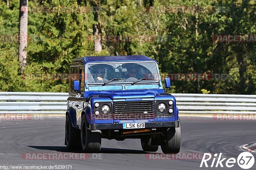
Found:
[[[256,141],[255,120],[215,120],[211,117],[180,117],[182,148],[180,157],[143,152],[139,139],[124,141],[102,139],[101,153],[87,154],[86,159],[26,159],[26,153],[67,153],[64,145],[65,117],[44,117],[40,120],[2,120],[0,122],[1,166],[54,166],[71,165],[72,169],[242,169],[235,163],[232,168],[199,167],[196,153],[222,153],[235,159],[241,146]],[[154,153],[154,152],[152,152]],[[193,154],[194,159],[188,155]],[[252,153],[256,159],[256,153]],[[22,156],[23,155],[23,156]],[[151,155],[151,156],[150,156]],[[153,156],[152,156],[153,155]],[[162,155],[162,159],[159,156]],[[100,159],[94,159],[100,157]],[[150,159],[149,159],[150,158]],[[170,159],[171,158],[171,159]],[[210,166],[212,160],[209,161]],[[225,164],[225,161],[224,161]],[[215,166],[215,164],[214,164]],[[3,169],[3,168],[2,168]],[[23,169],[23,168],[22,168]],[[65,168],[66,169],[66,168]],[[68,169],[71,169],[69,167]],[[256,169],[256,160],[251,169]]]

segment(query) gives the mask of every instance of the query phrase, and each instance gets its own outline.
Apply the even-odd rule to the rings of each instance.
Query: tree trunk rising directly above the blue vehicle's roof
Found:
[[[93,5],[97,6],[94,12],[94,21],[96,24],[92,25],[93,29],[93,35],[94,35],[94,51],[100,53],[102,51],[102,32],[100,28],[100,13],[99,13],[99,7],[100,7],[100,1],[96,1],[96,3]],[[92,5],[92,6],[93,6]]]

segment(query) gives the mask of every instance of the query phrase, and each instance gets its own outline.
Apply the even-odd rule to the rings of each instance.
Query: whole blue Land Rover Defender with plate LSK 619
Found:
[[[141,140],[178,153],[181,126],[175,97],[165,93],[158,63],[144,55],[76,58],[70,66],[65,145],[100,152],[101,138]],[[166,89],[170,78],[164,79]]]

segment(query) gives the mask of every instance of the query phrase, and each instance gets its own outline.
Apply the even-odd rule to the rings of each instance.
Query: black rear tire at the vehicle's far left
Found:
[[[66,116],[65,144],[68,149],[81,149],[80,131],[72,126],[69,114]]]

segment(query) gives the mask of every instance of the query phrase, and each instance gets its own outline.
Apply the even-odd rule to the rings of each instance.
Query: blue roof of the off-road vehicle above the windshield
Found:
[[[85,65],[88,62],[115,62],[115,61],[156,61],[145,55],[119,55],[119,56],[87,56],[73,59],[71,66]],[[156,61],[157,62],[157,61]]]

